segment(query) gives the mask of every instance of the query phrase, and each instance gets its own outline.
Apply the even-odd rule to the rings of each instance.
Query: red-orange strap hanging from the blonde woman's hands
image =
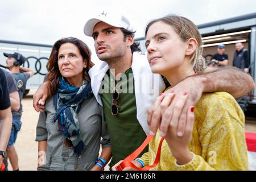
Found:
[[[150,140],[153,138],[152,135],[147,135],[147,138],[144,140],[144,142],[141,144],[141,146],[139,148],[137,148],[137,150],[135,150],[131,155],[127,156],[127,158],[125,158],[125,160],[122,161],[122,163],[119,164],[119,166],[115,167],[117,169],[117,171],[122,171],[122,169],[124,169],[125,167],[132,167],[137,169],[138,171],[148,171],[149,169],[155,167],[158,163],[159,163],[159,159],[160,159],[160,153],[161,153],[161,146],[163,143],[164,138],[162,137],[158,146],[158,152],[156,154],[156,158],[155,161],[152,165],[150,166],[145,166],[143,168],[138,168],[137,166],[135,166],[131,161],[133,161],[135,158],[137,158],[137,156],[139,154],[141,154],[141,152],[144,150],[144,148],[148,145],[148,143],[150,143]]]

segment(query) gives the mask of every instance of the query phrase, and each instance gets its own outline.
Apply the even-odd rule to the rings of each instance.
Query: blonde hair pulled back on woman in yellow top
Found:
[[[197,73],[201,73],[205,69],[205,59],[203,57],[203,42],[201,38],[201,34],[197,29],[196,25],[189,19],[183,16],[177,15],[167,15],[163,18],[158,18],[152,20],[150,23],[147,24],[145,37],[147,35],[148,28],[152,26],[152,24],[156,22],[164,22],[172,26],[175,32],[180,36],[181,40],[184,42],[190,38],[194,38],[197,41],[197,46],[195,52],[191,54],[189,57],[189,61],[193,65],[193,70]]]

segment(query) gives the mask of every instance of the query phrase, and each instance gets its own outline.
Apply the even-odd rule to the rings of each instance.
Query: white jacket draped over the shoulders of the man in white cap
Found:
[[[156,97],[163,92],[165,84],[160,75],[151,72],[150,65],[145,55],[134,52],[131,69],[134,75],[137,119],[144,132],[148,134],[150,129],[147,125],[147,109],[154,104]],[[89,71],[93,94],[101,106],[102,101],[99,90],[101,82],[108,70],[108,64],[105,61],[101,61],[99,64],[94,65]]]

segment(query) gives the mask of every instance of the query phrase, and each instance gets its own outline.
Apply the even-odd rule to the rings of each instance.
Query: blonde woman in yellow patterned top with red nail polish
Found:
[[[145,33],[152,72],[166,77],[172,86],[203,71],[203,43],[191,20],[176,15],[164,16],[148,23]],[[226,92],[204,93],[195,107],[187,111],[182,135],[177,131],[177,121],[188,95],[184,92],[176,102],[177,112],[169,112],[168,106],[162,110],[169,118],[165,121],[171,122],[149,120],[151,134],[155,137],[149,144],[149,151],[133,161],[135,166],[152,164],[160,139],[165,137],[159,164],[153,170],[247,170],[245,117],[236,100]],[[167,102],[174,96],[174,91],[167,90],[157,100],[160,104],[164,97],[163,102]],[[155,127],[159,128],[156,133],[152,132]]]

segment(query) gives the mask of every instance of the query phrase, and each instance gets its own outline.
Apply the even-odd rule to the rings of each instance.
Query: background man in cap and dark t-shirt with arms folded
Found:
[[[212,61],[216,63],[218,66],[226,66],[229,63],[229,56],[226,55],[225,52],[225,45],[220,44],[218,45],[217,49],[218,53],[212,56]]]

